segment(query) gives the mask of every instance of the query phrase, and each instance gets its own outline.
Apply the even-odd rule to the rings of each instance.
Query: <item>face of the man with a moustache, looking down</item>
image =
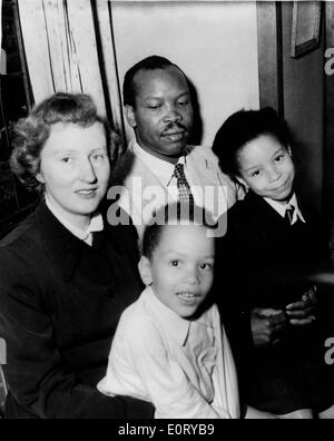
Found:
[[[136,107],[126,107],[137,143],[151,155],[177,163],[193,126],[193,106],[185,76],[176,67],[143,70],[135,76]]]

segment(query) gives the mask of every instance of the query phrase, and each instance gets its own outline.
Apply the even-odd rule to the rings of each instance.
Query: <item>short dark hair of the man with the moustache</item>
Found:
[[[184,76],[183,70],[167,58],[159,56],[150,56],[145,58],[144,60],[137,62],[132,66],[125,76],[124,85],[122,85],[122,98],[125,106],[136,107],[136,81],[135,77],[141,70],[157,70],[157,69],[168,69],[171,67],[176,67]],[[185,76],[187,79],[187,77]]]

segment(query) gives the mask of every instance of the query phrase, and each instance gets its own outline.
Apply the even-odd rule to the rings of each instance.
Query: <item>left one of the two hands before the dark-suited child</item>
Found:
[[[257,307],[252,311],[250,324],[255,346],[269,346],[278,343],[286,316],[283,311]]]

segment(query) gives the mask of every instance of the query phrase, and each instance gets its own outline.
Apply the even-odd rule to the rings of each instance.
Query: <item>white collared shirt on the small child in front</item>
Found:
[[[217,306],[188,321],[146,288],[120,318],[98,389],[149,401],[156,418],[238,419],[236,370]]]

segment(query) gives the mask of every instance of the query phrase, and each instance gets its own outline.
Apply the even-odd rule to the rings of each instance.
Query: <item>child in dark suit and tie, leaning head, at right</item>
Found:
[[[223,242],[232,312],[240,317],[227,331],[232,344],[242,342],[235,355],[249,404],[283,418],[331,416],[310,282],[327,243],[321,219],[295,193],[286,125],[271,108],[238,111],[219,129],[214,150],[223,170],[248,189],[228,212]]]

